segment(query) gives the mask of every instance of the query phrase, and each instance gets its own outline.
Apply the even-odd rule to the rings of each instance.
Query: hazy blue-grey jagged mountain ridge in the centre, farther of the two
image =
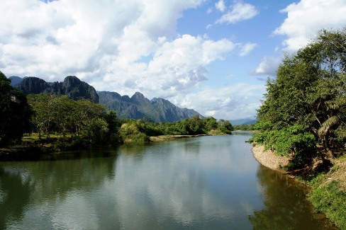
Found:
[[[169,100],[153,98],[149,100],[142,93],[135,93],[131,98],[119,93],[98,91],[99,103],[107,110],[115,110],[118,117],[141,119],[150,118],[155,122],[174,122],[199,115],[195,110],[179,108]]]

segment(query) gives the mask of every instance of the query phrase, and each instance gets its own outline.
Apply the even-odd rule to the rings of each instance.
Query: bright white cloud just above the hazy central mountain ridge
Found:
[[[175,40],[157,42],[150,62],[128,62],[124,56],[108,57],[108,69],[102,81],[91,81],[95,88],[117,87],[121,94],[145,93],[148,98],[169,96],[191,91],[206,81],[206,66],[224,59],[237,46],[230,40],[208,40],[201,36],[182,35]],[[134,51],[135,52],[135,51]],[[116,70],[116,71],[115,71]]]

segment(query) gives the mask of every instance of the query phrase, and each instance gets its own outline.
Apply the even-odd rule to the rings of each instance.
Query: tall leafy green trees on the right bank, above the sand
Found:
[[[301,158],[296,163],[311,161],[320,143],[325,157],[333,158],[346,137],[345,44],[346,28],[321,30],[316,40],[284,57],[277,78],[267,81],[255,125],[262,133],[252,142],[277,154],[291,151]]]

